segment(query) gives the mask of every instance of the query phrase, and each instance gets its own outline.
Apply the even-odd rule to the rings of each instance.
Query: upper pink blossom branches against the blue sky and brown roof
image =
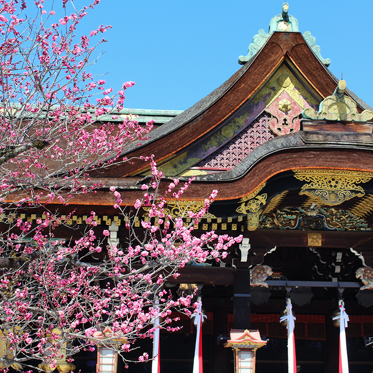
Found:
[[[74,193],[94,190],[100,184],[90,172],[126,162],[125,147],[152,128],[152,121],[141,126],[117,114],[112,123],[100,122],[120,113],[134,82],[114,93],[87,71],[105,42],[98,36],[111,26],[80,38],[76,31],[98,3],[77,10],[65,0],[62,9],[58,1],[0,0],[0,198],[7,202],[67,203]],[[35,7],[35,17],[27,16],[27,6]]]

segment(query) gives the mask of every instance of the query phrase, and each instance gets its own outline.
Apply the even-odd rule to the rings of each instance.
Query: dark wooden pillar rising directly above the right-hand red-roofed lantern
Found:
[[[250,270],[236,270],[233,285],[233,328],[250,329]]]

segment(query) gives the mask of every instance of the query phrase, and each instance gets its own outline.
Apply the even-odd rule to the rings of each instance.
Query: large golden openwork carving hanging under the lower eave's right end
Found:
[[[362,197],[365,191],[357,184],[367,183],[373,173],[349,170],[294,170],[294,177],[308,182],[300,195],[308,195],[320,205],[334,206],[354,197]]]

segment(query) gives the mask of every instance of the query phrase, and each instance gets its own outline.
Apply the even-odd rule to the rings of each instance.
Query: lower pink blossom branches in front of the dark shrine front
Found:
[[[177,297],[165,283],[175,281],[190,263],[225,258],[229,247],[241,241],[241,236],[214,231],[194,233],[195,223],[208,212],[216,190],[200,211],[186,210],[173,218],[166,197],[180,195],[190,182],[181,184],[175,179],[161,191],[162,174],[152,157],[149,161],[152,176],[142,187],[145,193],[138,206],[124,207],[120,193],[110,187],[113,205],[127,222],[120,246],[110,242],[109,230],[95,224],[94,211],[87,217],[85,234],[70,242],[54,238],[53,229],[63,221],[47,211],[36,228],[22,219],[14,224],[19,233],[9,228],[2,256],[15,255],[19,262],[9,262],[0,276],[0,291],[6,294],[0,299],[0,317],[7,331],[2,339],[9,343],[17,364],[39,359],[53,365],[63,348],[71,356],[79,349],[93,350],[96,344],[117,349],[125,359],[138,338],[152,338],[155,318],[163,320],[161,328],[178,330],[171,312],[177,309],[191,315],[196,307],[191,304],[193,294]],[[142,221],[139,228],[135,221],[144,207],[151,219]],[[184,217],[191,218],[190,223]],[[27,237],[31,238],[28,244]],[[101,252],[101,259],[93,259]],[[103,332],[107,328],[109,332]],[[123,343],[118,345],[118,339]],[[142,353],[139,361],[146,360]]]

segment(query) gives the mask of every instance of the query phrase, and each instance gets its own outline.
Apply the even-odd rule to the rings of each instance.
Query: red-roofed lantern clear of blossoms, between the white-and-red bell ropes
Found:
[[[231,329],[230,339],[224,347],[234,351],[234,373],[255,373],[256,352],[266,344],[259,330]]]

